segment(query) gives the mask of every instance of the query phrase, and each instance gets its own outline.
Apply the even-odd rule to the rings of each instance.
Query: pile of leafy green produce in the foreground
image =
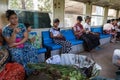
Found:
[[[53,64],[28,64],[29,68],[35,69],[37,75],[30,75],[28,80],[86,80],[80,70],[72,66]]]

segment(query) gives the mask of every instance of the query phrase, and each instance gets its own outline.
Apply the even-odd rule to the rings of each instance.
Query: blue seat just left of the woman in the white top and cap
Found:
[[[49,31],[42,31],[42,42],[43,42],[43,45],[53,42],[52,38],[50,37]]]

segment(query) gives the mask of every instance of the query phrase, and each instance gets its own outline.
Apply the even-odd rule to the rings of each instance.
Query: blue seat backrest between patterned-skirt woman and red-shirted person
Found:
[[[76,38],[72,29],[62,30],[61,33],[67,40],[73,40]]]

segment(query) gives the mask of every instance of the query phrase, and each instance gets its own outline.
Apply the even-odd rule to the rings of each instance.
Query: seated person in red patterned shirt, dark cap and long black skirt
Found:
[[[83,19],[81,16],[77,17],[77,23],[73,27],[74,34],[77,39],[82,39],[84,41],[85,50],[91,51],[92,49],[100,45],[100,43],[96,36],[89,34],[89,32],[83,28],[83,25],[81,24],[82,20]]]

